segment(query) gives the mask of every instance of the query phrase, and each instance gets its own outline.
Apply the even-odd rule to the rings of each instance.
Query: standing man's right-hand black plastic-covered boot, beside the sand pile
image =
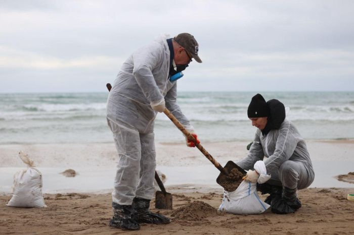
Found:
[[[167,224],[170,222],[169,218],[161,214],[152,213],[149,210],[149,207],[150,200],[143,198],[134,198],[134,213],[132,214],[132,218],[138,223]]]

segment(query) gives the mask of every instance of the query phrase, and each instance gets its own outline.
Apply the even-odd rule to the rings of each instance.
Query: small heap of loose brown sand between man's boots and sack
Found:
[[[194,201],[182,206],[176,210],[173,210],[171,216],[173,219],[187,220],[187,221],[199,221],[209,216],[215,216],[216,209],[209,204],[202,201]]]

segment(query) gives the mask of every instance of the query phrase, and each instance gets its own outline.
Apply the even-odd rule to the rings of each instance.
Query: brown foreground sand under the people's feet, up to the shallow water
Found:
[[[167,188],[173,210],[154,209],[171,218],[167,225],[142,224],[139,231],[108,226],[112,215],[110,194],[46,194],[47,208],[15,208],[0,196],[2,234],[352,234],[354,202],[346,200],[352,189],[305,189],[298,192],[302,207],[293,214],[270,210],[259,215],[216,213],[219,191],[205,188]],[[264,199],[265,196],[260,196]]]

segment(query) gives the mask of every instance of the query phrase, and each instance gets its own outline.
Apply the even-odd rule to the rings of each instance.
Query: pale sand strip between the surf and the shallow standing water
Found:
[[[250,141],[205,142],[203,147],[219,162],[238,160],[247,155]],[[312,161],[353,160],[348,153],[354,152],[354,139],[348,140],[306,140]],[[196,148],[185,143],[156,143],[157,165],[200,165],[209,164]],[[338,146],[340,145],[340,146]],[[10,144],[0,145],[0,168],[23,167],[17,156],[22,150],[40,167],[66,166],[111,166],[115,163],[116,149],[111,143],[82,144]],[[171,158],[179,157],[177,162]]]

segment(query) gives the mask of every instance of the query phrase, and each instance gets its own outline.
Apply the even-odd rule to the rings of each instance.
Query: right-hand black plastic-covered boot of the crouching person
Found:
[[[297,209],[301,207],[301,202],[296,197],[296,188],[289,189],[283,187],[282,196],[276,196],[272,199],[272,212],[276,214],[288,214],[294,213]]]

